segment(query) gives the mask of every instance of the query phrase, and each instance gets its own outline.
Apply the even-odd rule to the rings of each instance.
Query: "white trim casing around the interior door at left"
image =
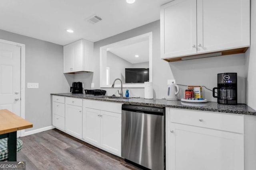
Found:
[[[16,43],[0,39],[0,43],[16,45],[20,47],[20,117],[25,119],[25,44]],[[25,130],[20,131],[20,136],[24,135]]]

